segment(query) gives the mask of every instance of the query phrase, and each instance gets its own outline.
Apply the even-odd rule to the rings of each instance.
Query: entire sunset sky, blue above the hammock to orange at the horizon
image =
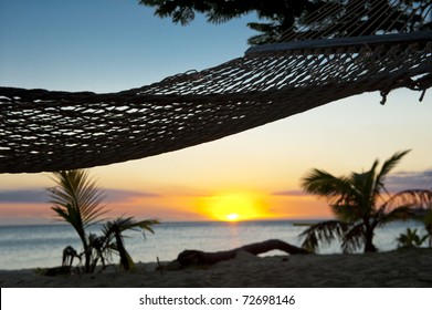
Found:
[[[242,56],[247,16],[188,27],[136,0],[0,0],[0,85],[116,92]],[[412,149],[387,179],[391,190],[432,187],[432,93],[368,93],[215,142],[91,169],[112,215],[168,220],[331,216],[305,195],[310,168],[335,175]],[[1,137],[0,137],[1,141]],[[0,175],[0,225],[52,223],[50,174]]]

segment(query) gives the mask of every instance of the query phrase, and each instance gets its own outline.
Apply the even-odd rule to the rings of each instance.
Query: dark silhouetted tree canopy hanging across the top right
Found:
[[[210,23],[222,23],[255,12],[263,22],[247,23],[260,32],[249,39],[251,45],[281,40],[295,32],[322,38],[432,29],[430,0],[140,0],[139,3],[156,8],[156,16],[171,18],[182,25],[189,24],[197,13],[206,14]],[[330,13],[317,14],[324,7]],[[319,24],[319,30],[314,24]]]

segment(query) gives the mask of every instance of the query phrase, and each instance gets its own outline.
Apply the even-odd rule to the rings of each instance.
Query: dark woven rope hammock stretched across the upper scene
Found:
[[[363,92],[379,91],[384,102],[391,90],[408,87],[422,97],[432,85],[432,31],[417,29],[430,22],[432,4],[336,2],[347,1],[329,1],[307,17],[314,23],[242,58],[139,89],[95,94],[0,87],[0,173],[143,158]],[[394,12],[409,16],[398,31]],[[373,22],[356,25],[361,14]]]

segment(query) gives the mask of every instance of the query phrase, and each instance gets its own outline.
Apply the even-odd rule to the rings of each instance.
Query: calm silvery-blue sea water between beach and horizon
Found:
[[[219,251],[246,244],[281,239],[299,246],[298,235],[306,229],[296,221],[245,221],[245,223],[164,223],[155,226],[155,235],[127,231],[126,248],[138,262],[173,260],[185,249]],[[419,228],[415,221],[392,223],[376,234],[376,246],[380,250],[397,247],[396,238],[407,227]],[[97,232],[99,227],[91,228]],[[82,250],[78,236],[69,225],[0,226],[0,269],[22,269],[60,266],[62,250],[66,246]],[[323,254],[340,252],[338,245],[320,250]],[[270,251],[266,255],[281,255]],[[114,258],[117,262],[117,258]]]

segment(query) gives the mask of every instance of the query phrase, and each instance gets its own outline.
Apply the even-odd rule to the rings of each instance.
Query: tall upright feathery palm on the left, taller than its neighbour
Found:
[[[101,205],[104,195],[88,177],[86,170],[61,170],[53,173],[56,186],[49,188],[51,208],[56,213],[59,220],[73,226],[83,244],[85,265],[84,272],[93,272],[92,247],[86,229],[88,226],[103,220],[107,210]]]

